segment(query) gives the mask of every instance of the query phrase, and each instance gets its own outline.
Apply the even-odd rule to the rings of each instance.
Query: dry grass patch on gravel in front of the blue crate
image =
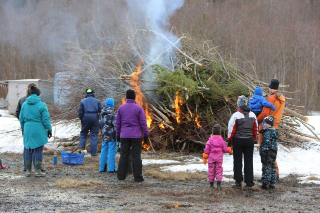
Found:
[[[102,186],[101,181],[77,181],[71,178],[61,178],[56,181],[55,187],[60,189],[73,189],[73,188],[81,188],[81,187],[92,187],[92,186]]]

